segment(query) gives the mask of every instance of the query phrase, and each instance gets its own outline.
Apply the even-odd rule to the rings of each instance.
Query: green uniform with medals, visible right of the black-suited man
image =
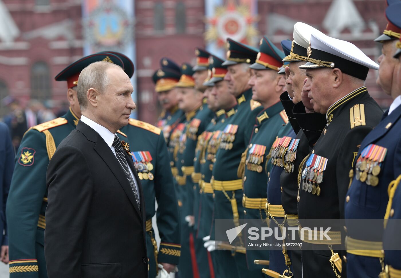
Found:
[[[149,277],[156,277],[157,263],[178,265],[180,258],[180,222],[170,161],[162,131],[148,123],[130,119],[121,129],[142,183],[146,205],[146,249]],[[123,137],[120,136],[120,139]],[[128,140],[128,142],[127,142]],[[158,208],[156,211],[155,201]],[[156,213],[160,248],[154,239],[152,217]]]

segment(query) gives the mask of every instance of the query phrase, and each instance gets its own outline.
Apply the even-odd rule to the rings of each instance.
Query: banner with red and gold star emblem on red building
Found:
[[[205,0],[207,51],[225,57],[228,37],[255,45],[259,32],[256,0]]]

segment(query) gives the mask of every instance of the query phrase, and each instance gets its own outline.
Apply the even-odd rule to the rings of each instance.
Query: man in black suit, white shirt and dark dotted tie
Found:
[[[124,70],[107,61],[79,75],[81,121],[47,169],[49,278],[148,277],[142,186],[116,135],[135,108],[132,91]]]

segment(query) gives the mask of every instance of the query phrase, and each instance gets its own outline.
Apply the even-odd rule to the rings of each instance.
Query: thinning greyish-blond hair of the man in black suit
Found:
[[[118,67],[119,69],[122,69],[119,65],[106,61],[98,61],[85,67],[79,74],[77,97],[81,110],[85,110],[88,106],[87,92],[90,88],[96,89],[102,94],[106,86],[110,83],[109,77],[106,73],[109,67]]]

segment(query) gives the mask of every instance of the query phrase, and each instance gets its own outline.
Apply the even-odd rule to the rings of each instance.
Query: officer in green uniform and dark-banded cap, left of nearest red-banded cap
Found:
[[[215,193],[214,219],[233,219],[234,224],[239,225],[239,218],[243,218],[243,191],[237,168],[252,133],[253,126],[249,123],[255,121],[262,107],[259,102],[252,99],[251,86],[248,84],[251,78],[249,65],[255,62],[257,49],[232,39],[227,39],[227,46],[229,51],[223,65],[227,66],[228,72],[224,80],[227,81],[229,92],[237,98],[238,104],[233,107],[235,114],[231,116],[230,123],[223,129],[211,184]],[[214,240],[213,233],[211,240]],[[217,256],[219,260],[227,260],[225,257],[231,255],[229,252],[221,252]],[[238,242],[234,258],[239,277],[259,275],[258,271],[249,272],[247,269],[242,239]]]

